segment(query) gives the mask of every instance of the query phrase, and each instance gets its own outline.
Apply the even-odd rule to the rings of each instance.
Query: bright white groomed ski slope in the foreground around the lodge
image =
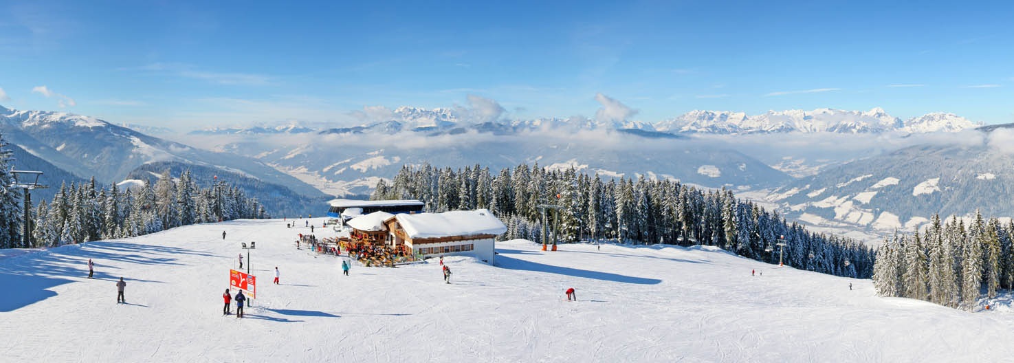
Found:
[[[544,252],[514,240],[497,244],[497,266],[447,259],[454,274],[447,285],[435,262],[356,265],[342,276],[339,259],[295,248],[296,233],[308,231],[241,220],[0,253],[0,361],[971,362],[1014,355],[1003,343],[1014,331],[1009,313],[880,298],[868,280],[708,247],[565,244]],[[258,298],[247,317],[223,316],[228,272],[239,242],[250,240]],[[89,258],[93,280],[85,278]],[[121,276],[129,304],[115,303]],[[566,301],[568,287],[578,302]]]

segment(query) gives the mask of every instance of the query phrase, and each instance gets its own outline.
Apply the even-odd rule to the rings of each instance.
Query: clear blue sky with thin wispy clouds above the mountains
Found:
[[[351,124],[469,94],[507,118],[591,117],[599,92],[647,122],[874,106],[1014,122],[1010,2],[40,3],[0,4],[0,104],[115,123]]]

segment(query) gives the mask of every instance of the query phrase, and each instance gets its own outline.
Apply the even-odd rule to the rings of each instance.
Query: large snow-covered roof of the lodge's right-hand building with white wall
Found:
[[[409,238],[439,238],[481,234],[500,234],[507,226],[485,209],[444,213],[399,214],[393,218]],[[388,218],[389,219],[389,218]]]

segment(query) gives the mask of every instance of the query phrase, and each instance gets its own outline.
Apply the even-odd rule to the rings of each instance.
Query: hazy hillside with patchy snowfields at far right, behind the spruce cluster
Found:
[[[912,230],[936,213],[1011,216],[1011,154],[994,146],[912,146],[829,167],[769,198],[813,225],[881,231]]]

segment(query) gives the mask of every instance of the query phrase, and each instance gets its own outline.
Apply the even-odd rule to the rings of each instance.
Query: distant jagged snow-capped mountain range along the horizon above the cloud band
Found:
[[[763,115],[746,115],[728,111],[692,111],[657,123],[634,120],[594,120],[585,117],[502,119],[476,122],[467,110],[420,108],[400,106],[390,112],[372,115],[371,122],[353,127],[314,129],[289,123],[277,127],[208,128],[191,132],[201,135],[221,134],[322,134],[377,132],[441,132],[453,129],[516,133],[531,130],[638,130],[649,133],[686,134],[757,134],[757,133],[900,133],[957,132],[983,126],[949,113],[931,113],[901,120],[883,108],[844,111],[817,108],[813,111],[769,111]],[[379,121],[378,121],[379,120]]]

